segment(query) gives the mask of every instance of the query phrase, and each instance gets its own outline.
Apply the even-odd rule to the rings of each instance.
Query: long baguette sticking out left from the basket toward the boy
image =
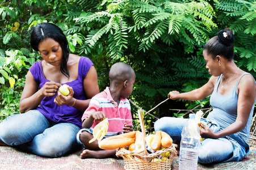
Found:
[[[108,137],[98,142],[99,148],[103,150],[115,150],[116,148],[126,147],[135,143],[136,131],[131,131],[128,133],[123,133]]]

